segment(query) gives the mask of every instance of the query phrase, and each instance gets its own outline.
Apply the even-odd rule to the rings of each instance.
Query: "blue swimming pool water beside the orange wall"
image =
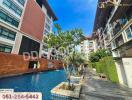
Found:
[[[50,90],[66,80],[64,70],[48,71],[0,79],[0,89],[15,92],[42,92],[43,100],[50,100]]]

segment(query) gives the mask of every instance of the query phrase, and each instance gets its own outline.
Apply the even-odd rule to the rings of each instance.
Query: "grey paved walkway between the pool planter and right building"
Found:
[[[80,100],[132,100],[132,90],[102,80],[91,69],[87,69]]]

